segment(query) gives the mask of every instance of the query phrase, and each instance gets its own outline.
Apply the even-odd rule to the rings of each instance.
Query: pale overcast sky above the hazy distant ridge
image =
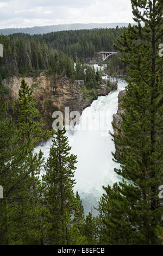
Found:
[[[0,28],[133,22],[130,0],[0,0]]]

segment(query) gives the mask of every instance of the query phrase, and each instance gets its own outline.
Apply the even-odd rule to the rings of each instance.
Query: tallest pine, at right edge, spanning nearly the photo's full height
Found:
[[[117,47],[126,52],[124,61],[128,72],[120,129],[123,135],[114,135],[116,149],[120,152],[114,159],[121,164],[121,169],[115,171],[123,178],[118,186],[123,200],[112,199],[111,205],[117,204],[115,214],[126,215],[129,221],[130,241],[128,230],[124,230],[125,244],[157,245],[160,241],[156,227],[162,227],[163,210],[162,199],[158,196],[163,183],[163,59],[158,56],[163,6],[162,1],[156,0],[131,0],[131,4],[137,25],[124,31],[118,40],[122,47]],[[107,194],[109,197],[110,192]],[[118,224],[123,227],[117,218]]]

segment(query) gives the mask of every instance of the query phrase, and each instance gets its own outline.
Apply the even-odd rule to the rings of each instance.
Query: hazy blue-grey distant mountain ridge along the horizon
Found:
[[[134,23],[131,23],[134,24]],[[0,29],[0,34],[9,35],[14,33],[26,33],[26,34],[46,34],[57,31],[79,30],[79,29],[93,29],[93,28],[116,28],[127,27],[129,23],[74,23],[65,25],[51,25],[42,27],[28,27],[28,28],[3,28]]]

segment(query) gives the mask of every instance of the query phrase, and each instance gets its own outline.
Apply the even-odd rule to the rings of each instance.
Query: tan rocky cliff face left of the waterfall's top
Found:
[[[40,74],[38,77],[25,77],[29,87],[33,88],[33,97],[37,101],[37,108],[40,111],[40,118],[43,119],[45,129],[52,129],[54,111],[61,111],[64,114],[65,107],[71,111],[78,111],[82,114],[83,109],[90,106],[98,96],[105,96],[111,90],[117,89],[117,84],[100,84],[98,89],[90,92],[85,90],[84,81],[71,81],[66,77],[54,78]],[[18,98],[18,89],[21,86],[22,77],[9,77],[3,81],[4,86],[9,88],[10,99]]]

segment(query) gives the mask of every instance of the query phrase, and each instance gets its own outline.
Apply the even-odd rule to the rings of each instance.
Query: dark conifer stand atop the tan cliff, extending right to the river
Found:
[[[77,62],[74,69],[73,59],[66,53],[53,50],[45,42],[36,39],[22,39],[14,36],[0,36],[4,47],[4,57],[0,59],[0,94],[8,93],[2,80],[8,76],[37,76],[41,71],[54,77],[84,80],[87,88],[97,87],[101,72],[84,63]]]

